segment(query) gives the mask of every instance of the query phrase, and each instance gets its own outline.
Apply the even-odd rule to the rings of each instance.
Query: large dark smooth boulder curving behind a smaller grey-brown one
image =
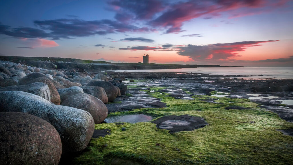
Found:
[[[117,93],[118,93],[116,87],[108,81],[91,81],[86,86],[104,88],[104,90],[107,94],[107,97],[108,97],[108,102],[112,102],[113,100],[115,100]]]

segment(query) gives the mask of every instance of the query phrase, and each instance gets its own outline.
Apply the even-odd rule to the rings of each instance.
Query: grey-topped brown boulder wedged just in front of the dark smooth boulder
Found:
[[[84,93],[93,95],[100,99],[104,104],[108,102],[107,94],[102,87],[91,87],[91,86],[81,86],[81,88],[84,90]]]

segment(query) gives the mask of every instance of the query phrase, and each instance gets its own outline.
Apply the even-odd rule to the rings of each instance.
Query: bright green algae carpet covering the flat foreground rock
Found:
[[[109,116],[145,114],[155,120],[166,115],[188,114],[203,117],[209,125],[169,134],[150,122],[96,124],[95,129],[110,129],[111,134],[92,138],[86,151],[74,158],[74,163],[293,164],[293,137],[276,130],[292,129],[293,123],[262,110],[248,99],[194,95],[194,100],[181,100],[169,97],[161,89],[154,87],[145,92],[160,98],[167,107],[135,109]],[[210,99],[215,101],[206,101]],[[241,108],[225,109],[232,106]],[[122,127],[126,130],[122,131]]]

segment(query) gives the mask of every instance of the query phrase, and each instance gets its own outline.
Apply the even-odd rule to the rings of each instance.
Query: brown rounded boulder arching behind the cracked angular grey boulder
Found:
[[[41,74],[41,73],[33,73],[33,74]],[[33,75],[33,74],[30,74],[30,75]],[[30,76],[30,75],[27,75],[27,76]],[[43,74],[41,74],[41,75],[43,75]],[[24,78],[26,78],[27,76],[25,76]],[[24,78],[22,78],[20,81],[22,81]],[[52,81],[53,80],[50,80],[45,76],[45,77],[35,78],[30,81],[22,81],[22,84],[20,84],[20,85],[27,85],[27,84],[36,83],[36,82],[47,84],[49,87],[49,90],[50,90],[51,102],[56,105],[60,105],[60,95],[59,95],[56,87],[52,83]]]

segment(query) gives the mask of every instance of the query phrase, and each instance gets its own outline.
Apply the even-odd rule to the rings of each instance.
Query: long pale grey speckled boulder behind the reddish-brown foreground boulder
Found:
[[[44,98],[22,91],[0,92],[0,112],[25,112],[40,117],[58,131],[64,152],[82,151],[93,135],[91,114],[73,107],[51,104]]]

